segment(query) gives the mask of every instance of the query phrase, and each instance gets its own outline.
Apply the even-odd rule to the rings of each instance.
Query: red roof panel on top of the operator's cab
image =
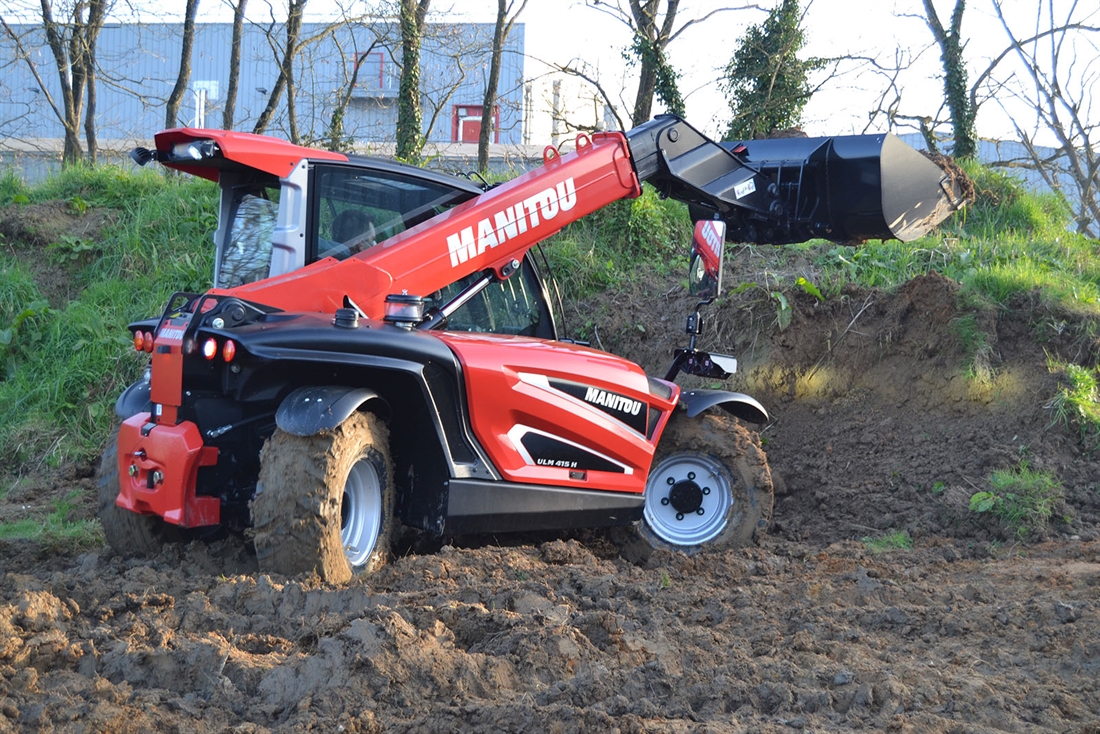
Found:
[[[212,140],[218,143],[221,154],[238,163],[250,166],[275,176],[286,176],[304,158],[320,161],[346,161],[343,153],[319,151],[312,147],[301,147],[277,138],[254,135],[250,132],[232,132],[229,130],[206,130],[198,128],[177,128],[156,133],[156,150],[170,151],[177,143],[190,143],[196,140]],[[176,168],[193,176],[201,176],[218,180],[218,168],[209,165],[187,165],[167,163],[169,168]]]

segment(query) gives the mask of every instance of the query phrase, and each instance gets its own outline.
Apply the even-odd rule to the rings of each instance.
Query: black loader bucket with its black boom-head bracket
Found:
[[[966,199],[890,133],[715,143],[673,116],[627,133],[639,178],[721,219],[729,242],[915,240]]]

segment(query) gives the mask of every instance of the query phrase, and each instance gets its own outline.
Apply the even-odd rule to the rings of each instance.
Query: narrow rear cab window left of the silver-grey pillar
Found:
[[[272,237],[278,221],[276,186],[254,186],[234,191],[229,242],[218,263],[216,285],[232,288],[267,277]]]

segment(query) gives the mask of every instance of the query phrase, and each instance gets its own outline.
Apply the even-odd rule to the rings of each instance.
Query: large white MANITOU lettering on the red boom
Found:
[[[542,189],[535,196],[501,209],[477,222],[477,234],[473,227],[465,227],[447,237],[447,248],[451,251],[451,267],[458,267],[471,258],[476,258],[490,248],[495,248],[536,228],[544,226],[561,211],[576,206],[576,187],[570,176],[553,187]]]

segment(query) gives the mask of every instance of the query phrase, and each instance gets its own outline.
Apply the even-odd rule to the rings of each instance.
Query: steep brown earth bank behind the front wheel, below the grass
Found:
[[[695,302],[672,287],[640,308],[652,285],[619,295],[600,333],[610,351],[661,374],[686,343],[676,321]],[[1077,355],[1082,344],[1056,335],[1037,343],[1036,303],[961,310],[958,285],[930,274],[892,294],[800,296],[780,330],[773,302],[756,291],[704,310],[700,348],[737,354],[729,386],[771,415],[760,434],[783,495],[773,536],[829,544],[904,530],[983,552],[1018,538],[970,512],[970,496],[991,489],[993,471],[1025,462],[1065,487],[1052,526],[1031,539],[1097,537],[1100,462],[1047,407],[1058,391],[1047,354]]]

